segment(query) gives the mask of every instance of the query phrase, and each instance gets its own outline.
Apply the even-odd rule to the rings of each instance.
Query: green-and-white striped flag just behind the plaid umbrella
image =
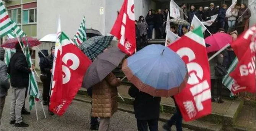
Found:
[[[83,21],[81,22],[79,29],[76,32],[76,35],[74,36],[74,43],[76,44],[76,46],[79,46],[85,40],[86,40],[86,28],[85,28],[85,16],[84,16]]]

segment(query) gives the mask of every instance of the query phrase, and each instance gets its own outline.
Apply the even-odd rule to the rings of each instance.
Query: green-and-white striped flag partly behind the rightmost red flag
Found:
[[[235,60],[233,60],[232,64],[230,65],[230,67],[228,68],[228,74],[226,76],[224,76],[224,78],[222,79],[222,84],[224,86],[226,86],[230,91],[232,89],[232,84],[234,82],[234,79],[232,77],[229,76],[229,74],[235,70],[235,68],[237,67],[238,64],[238,59],[237,57],[235,58]],[[231,92],[230,97],[232,97],[234,94]]]

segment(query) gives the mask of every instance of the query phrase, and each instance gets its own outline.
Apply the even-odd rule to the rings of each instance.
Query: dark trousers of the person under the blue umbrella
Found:
[[[137,127],[138,127],[138,131],[147,131],[147,127],[149,127],[149,131],[158,131],[158,119],[153,119],[153,120],[137,119]]]

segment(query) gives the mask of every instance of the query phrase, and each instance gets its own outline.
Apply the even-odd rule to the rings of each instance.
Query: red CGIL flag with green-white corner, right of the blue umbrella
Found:
[[[211,113],[211,77],[201,27],[168,46],[186,63],[189,79],[185,89],[174,95],[185,121]]]

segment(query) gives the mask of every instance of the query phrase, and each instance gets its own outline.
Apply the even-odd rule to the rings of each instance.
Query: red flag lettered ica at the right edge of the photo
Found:
[[[256,26],[250,27],[243,32],[231,44],[232,49],[238,58],[237,68],[230,73],[234,79],[231,91],[237,94],[241,91],[256,91],[256,71],[255,71],[255,53],[256,53]]]

